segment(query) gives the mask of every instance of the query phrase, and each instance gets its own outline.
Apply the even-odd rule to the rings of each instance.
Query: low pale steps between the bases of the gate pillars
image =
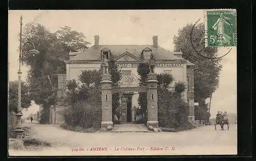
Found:
[[[123,123],[115,124],[109,132],[152,132],[144,124]]]

